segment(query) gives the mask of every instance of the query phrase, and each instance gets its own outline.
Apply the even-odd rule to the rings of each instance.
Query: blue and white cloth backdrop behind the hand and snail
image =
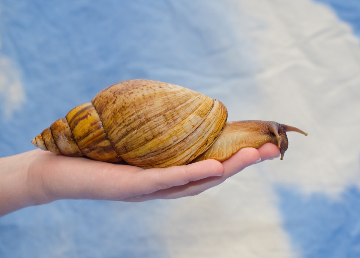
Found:
[[[321,38],[329,45],[350,42],[352,49],[334,48],[334,56],[358,53],[360,4],[285,2],[254,7],[247,0],[1,1],[1,157],[33,149],[31,139],[54,120],[102,88],[134,78],[179,84],[217,98],[228,107],[230,120],[280,119],[310,132],[305,139],[291,136],[283,163],[256,165],[197,197],[145,203],[62,200],[5,215],[0,218],[0,257],[360,257],[360,152],[347,144],[357,138],[343,136],[341,123],[331,118],[338,111],[347,119],[347,108],[359,107],[360,80],[347,66],[354,60],[359,64],[359,55],[350,54],[344,69],[334,73],[325,65],[332,61],[325,60],[328,55],[324,60],[316,55],[321,47],[306,48]],[[313,13],[305,7],[302,16],[293,18],[298,27],[281,22],[292,10],[301,13],[299,6],[321,8],[314,11],[316,23],[325,28],[320,36],[310,33],[311,25],[300,29]],[[280,21],[278,30],[262,20],[265,14]],[[331,33],[334,24],[341,33]],[[284,31],[295,40],[288,43]],[[258,43],[265,37],[263,45]],[[264,46],[274,52],[262,53]],[[289,65],[287,57],[297,50],[305,63]],[[279,52],[284,59],[271,59]],[[303,64],[318,69],[319,77],[302,72]],[[289,67],[296,77],[280,77]],[[327,84],[327,70],[340,78],[331,80],[334,87]],[[275,87],[264,84],[276,78],[285,79]],[[282,95],[293,98],[279,100]],[[269,105],[269,98],[278,104]],[[289,106],[280,109],[280,104]],[[358,130],[358,115],[353,116],[357,120],[351,118],[346,130]],[[314,124],[316,119],[323,120]],[[332,137],[346,138],[354,155],[343,155],[336,137],[317,142],[326,138],[327,124],[334,125]],[[336,176],[339,183],[337,178],[331,183]],[[273,195],[255,191],[238,197],[257,184]]]

